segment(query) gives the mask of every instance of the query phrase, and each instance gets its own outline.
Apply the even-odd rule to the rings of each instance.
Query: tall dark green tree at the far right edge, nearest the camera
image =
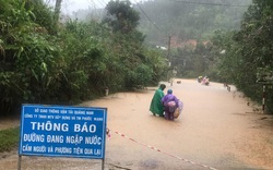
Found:
[[[273,70],[272,48],[273,48],[273,2],[270,0],[257,1],[253,0],[247,13],[245,14],[241,29],[236,36],[236,41],[241,45],[241,66],[239,74],[240,82],[237,83],[238,87],[252,99],[260,101],[262,96],[262,88],[257,81],[257,73],[260,69]],[[257,89],[254,93],[252,89]],[[268,108],[273,110],[270,97],[272,90],[268,90]]]

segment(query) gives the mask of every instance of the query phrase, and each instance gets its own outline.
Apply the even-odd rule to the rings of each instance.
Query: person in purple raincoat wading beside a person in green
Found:
[[[162,98],[162,104],[164,105],[165,119],[174,120],[174,112],[178,108],[178,99],[173,95],[173,89],[168,89],[167,95]]]

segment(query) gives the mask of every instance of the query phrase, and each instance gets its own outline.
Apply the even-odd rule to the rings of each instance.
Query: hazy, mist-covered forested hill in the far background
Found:
[[[239,29],[250,3],[251,0],[154,0],[135,9],[141,13],[140,29],[147,35],[146,40],[166,46],[169,35],[180,40],[207,40],[216,29]]]

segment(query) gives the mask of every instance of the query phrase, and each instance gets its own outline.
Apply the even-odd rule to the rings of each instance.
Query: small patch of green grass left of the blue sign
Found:
[[[0,131],[0,153],[10,151],[19,144],[20,127]]]

